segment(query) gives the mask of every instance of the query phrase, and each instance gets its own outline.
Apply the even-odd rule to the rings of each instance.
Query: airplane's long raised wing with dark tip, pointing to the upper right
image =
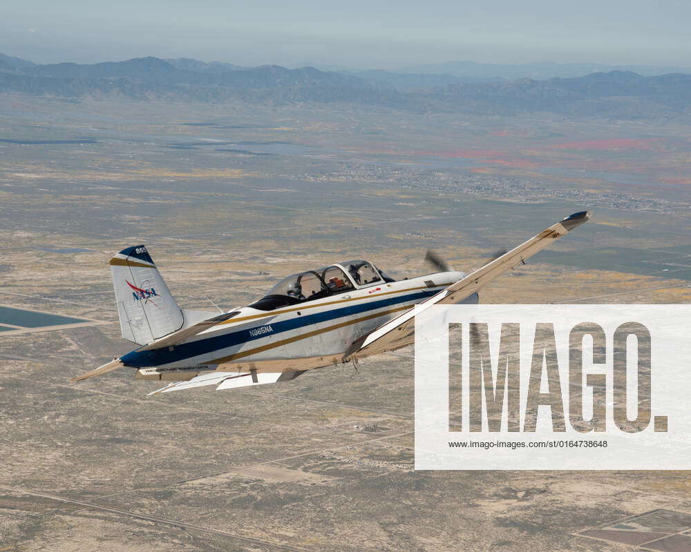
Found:
[[[426,308],[439,304],[457,304],[473,295],[482,286],[486,286],[500,275],[512,270],[514,266],[525,259],[545,249],[554,240],[568,234],[571,230],[580,226],[591,216],[590,211],[574,213],[570,217],[545,228],[538,235],[531,237],[527,242],[504,253],[501,257],[478,268],[455,284],[433,295],[419,304],[418,308]],[[415,307],[382,324],[379,328],[356,339],[345,351],[343,361],[368,357],[377,353],[386,353],[410,345],[415,340]]]

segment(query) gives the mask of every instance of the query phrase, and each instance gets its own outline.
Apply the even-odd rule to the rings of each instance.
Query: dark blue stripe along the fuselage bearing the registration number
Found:
[[[434,295],[438,291],[439,290],[431,289],[424,290],[418,293],[410,293],[403,296],[399,295],[399,297],[388,297],[386,299],[380,299],[379,301],[354,304],[342,308],[334,308],[331,311],[323,311],[322,313],[296,316],[294,318],[283,320],[282,322],[270,322],[268,324],[271,325],[272,332],[268,334],[261,333],[253,336],[249,334],[249,330],[253,328],[245,328],[232,333],[208,337],[207,339],[199,339],[198,341],[191,343],[182,343],[174,346],[173,351],[170,351],[169,348],[153,349],[153,351],[132,351],[131,353],[127,353],[126,355],[120,357],[120,360],[122,360],[126,366],[134,366],[135,368],[142,368],[144,366],[161,366],[162,364],[169,364],[171,362],[180,362],[181,360],[187,358],[196,357],[205,353],[212,353],[213,351],[218,351],[218,349],[243,344],[254,341],[255,339],[262,339],[263,337],[277,335],[279,333],[294,330],[296,328],[302,328],[303,326],[310,326],[319,322],[328,322],[344,316],[366,313],[367,311],[374,311],[377,308],[415,301],[416,299],[425,299],[426,297],[430,297],[430,295]],[[268,311],[267,316],[270,315],[271,311]],[[261,328],[262,326],[267,326],[268,324],[261,324],[261,326],[254,327]]]

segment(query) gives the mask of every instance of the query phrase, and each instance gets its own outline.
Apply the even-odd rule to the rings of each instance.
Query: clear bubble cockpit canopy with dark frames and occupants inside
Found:
[[[273,311],[281,306],[313,301],[377,282],[393,281],[367,261],[347,261],[285,277],[265,297],[250,306],[260,311]]]

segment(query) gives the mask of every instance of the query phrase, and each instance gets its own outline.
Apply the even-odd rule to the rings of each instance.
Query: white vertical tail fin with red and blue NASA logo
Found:
[[[145,345],[182,328],[182,311],[145,246],[123,249],[110,264],[124,339]]]

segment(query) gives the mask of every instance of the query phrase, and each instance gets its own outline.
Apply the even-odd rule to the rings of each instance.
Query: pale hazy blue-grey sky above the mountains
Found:
[[[0,0],[0,52],[39,63],[691,66],[690,23],[690,0]]]

